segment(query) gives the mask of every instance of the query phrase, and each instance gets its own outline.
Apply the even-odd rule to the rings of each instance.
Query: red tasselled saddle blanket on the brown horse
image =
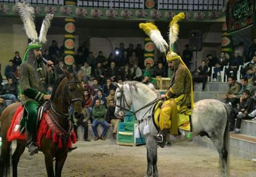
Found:
[[[11,119],[11,125],[7,131],[8,141],[26,140],[26,132],[20,133],[20,120],[22,119],[23,110],[23,107],[20,106],[13,115],[13,118]],[[73,127],[68,134],[69,136],[67,137],[67,139],[65,139],[65,141],[67,141],[65,145],[67,145],[67,148],[70,148],[72,147],[72,143],[76,142],[76,136],[75,131],[73,131]],[[47,139],[51,139],[53,143],[56,143],[59,148],[63,147],[64,139],[61,137],[59,129],[57,129],[53,125],[53,122],[51,122],[51,118],[49,118],[48,112],[44,112],[40,120],[40,125],[38,127],[36,135],[38,147],[41,147],[41,140],[43,135]]]

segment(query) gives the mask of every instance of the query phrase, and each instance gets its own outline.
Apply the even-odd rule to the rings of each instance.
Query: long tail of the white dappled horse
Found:
[[[228,172],[228,176],[230,174],[230,170],[229,170],[229,141],[230,141],[230,137],[229,137],[229,120],[230,120],[230,108],[228,108],[228,106],[226,106],[226,104],[224,104],[225,109],[226,109],[226,127],[225,127],[225,131],[224,131],[224,139],[223,139],[223,143],[224,143],[224,151],[226,150],[226,152],[224,152],[224,155],[226,155],[226,170]]]

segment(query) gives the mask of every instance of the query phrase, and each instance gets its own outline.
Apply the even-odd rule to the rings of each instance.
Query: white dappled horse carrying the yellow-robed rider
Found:
[[[153,106],[156,104],[159,94],[148,85],[137,81],[127,81],[123,85],[117,85],[115,95],[115,114],[120,116],[122,111],[135,114],[139,120],[139,131],[143,135],[143,129],[147,120],[150,127],[150,134],[143,135],[146,138],[148,170],[146,176],[158,176],[157,169],[157,149],[158,145],[153,139],[153,135],[158,134],[152,118]],[[131,107],[134,111],[130,111]],[[152,116],[153,117],[153,116]],[[195,103],[191,116],[192,127],[191,137],[197,135],[209,137],[219,153],[220,176],[229,176],[228,150],[229,133],[228,119],[229,108],[218,100],[201,100]],[[153,168],[153,171],[152,171]]]

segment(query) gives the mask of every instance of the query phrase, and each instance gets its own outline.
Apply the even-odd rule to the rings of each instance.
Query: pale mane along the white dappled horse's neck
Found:
[[[148,85],[143,84],[139,81],[125,81],[124,85],[125,84],[129,85],[130,92],[131,92],[132,88],[134,88],[135,92],[138,92],[138,88],[139,88],[139,89],[143,90],[143,92],[145,92],[145,93],[150,93],[150,95],[154,94],[154,96],[156,96],[156,97],[159,96],[159,93],[156,89],[149,87]]]

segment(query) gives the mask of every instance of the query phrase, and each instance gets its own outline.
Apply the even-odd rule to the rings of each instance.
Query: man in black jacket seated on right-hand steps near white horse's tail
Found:
[[[243,96],[241,96],[240,98],[239,107],[232,109],[231,116],[230,116],[230,131],[234,131],[235,133],[240,133],[241,122],[242,122],[241,118],[251,119],[251,117],[248,116],[249,111],[250,112],[253,111],[253,110],[249,110],[249,104],[251,102],[251,99],[249,98],[249,94],[250,94],[249,90],[244,90]],[[234,129],[235,118],[236,118],[236,129]]]

